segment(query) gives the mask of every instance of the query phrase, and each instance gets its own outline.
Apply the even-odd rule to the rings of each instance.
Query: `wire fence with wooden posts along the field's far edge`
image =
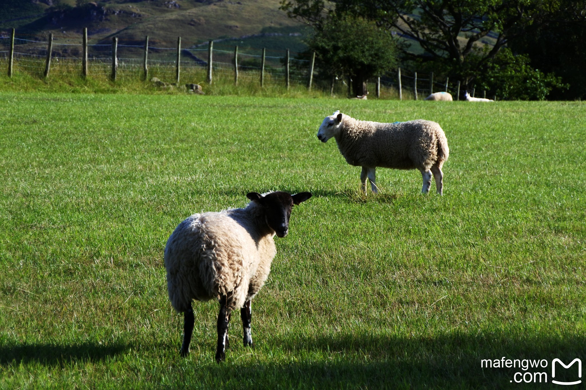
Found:
[[[179,85],[180,82],[200,83],[230,80],[234,83],[260,83],[270,85],[306,86],[319,88],[336,95],[351,95],[352,80],[349,77],[324,77],[325,72],[314,67],[308,53],[267,55],[265,49],[234,50],[215,49],[213,41],[191,47],[145,39],[137,42],[113,43],[98,40],[88,43],[87,35],[79,43],[54,39],[28,37],[17,34],[0,35],[0,61],[8,67],[8,75],[24,73],[35,77],[79,77],[114,80],[153,80],[163,84]],[[90,38],[91,39],[91,38]],[[65,41],[65,42],[63,42]],[[271,54],[279,54],[272,51]],[[315,54],[314,54],[315,56]],[[413,74],[413,75],[411,75]],[[434,80],[433,74],[417,77],[417,73],[405,74],[400,69],[388,71],[367,83],[367,90],[387,97],[404,99],[424,98],[431,92],[449,92],[458,99],[460,82]],[[156,80],[155,79],[155,80]],[[486,93],[484,93],[485,95]],[[474,95],[474,91],[471,91]]]

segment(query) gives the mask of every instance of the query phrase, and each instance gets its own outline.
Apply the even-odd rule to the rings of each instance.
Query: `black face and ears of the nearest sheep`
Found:
[[[289,233],[289,218],[293,206],[311,198],[309,192],[290,195],[283,191],[271,192],[266,196],[258,194],[258,192],[250,192],[246,196],[251,201],[263,205],[267,224],[278,237],[285,237]]]

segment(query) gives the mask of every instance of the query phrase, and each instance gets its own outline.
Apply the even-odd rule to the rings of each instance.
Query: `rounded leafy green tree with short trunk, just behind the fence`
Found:
[[[331,77],[352,77],[355,96],[367,94],[370,77],[396,65],[397,45],[390,32],[362,18],[329,18],[307,43],[318,66]]]

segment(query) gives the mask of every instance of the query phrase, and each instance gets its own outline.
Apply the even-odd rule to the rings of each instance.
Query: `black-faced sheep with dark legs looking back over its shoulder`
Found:
[[[193,333],[192,299],[219,299],[216,361],[224,360],[231,312],[240,309],[244,346],[253,344],[250,301],[271,269],[277,252],[273,236],[287,236],[293,205],[309,192],[289,195],[250,192],[243,209],[194,214],[176,227],[165,247],[167,289],[173,308],[183,312],[182,356],[189,353]]]

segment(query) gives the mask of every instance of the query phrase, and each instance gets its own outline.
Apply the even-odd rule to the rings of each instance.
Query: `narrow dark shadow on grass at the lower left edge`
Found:
[[[100,361],[124,353],[125,344],[100,345],[81,343],[59,344],[3,344],[0,345],[0,365],[38,362],[45,365],[62,365],[72,361]]]

